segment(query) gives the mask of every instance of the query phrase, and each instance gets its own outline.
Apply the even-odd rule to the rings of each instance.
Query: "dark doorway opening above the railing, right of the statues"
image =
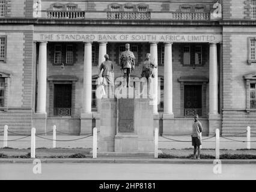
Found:
[[[202,108],[202,86],[185,85],[184,86],[184,109]]]

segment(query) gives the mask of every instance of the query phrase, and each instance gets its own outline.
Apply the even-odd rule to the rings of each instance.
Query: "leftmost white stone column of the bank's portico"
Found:
[[[46,113],[47,41],[39,44],[37,113]]]

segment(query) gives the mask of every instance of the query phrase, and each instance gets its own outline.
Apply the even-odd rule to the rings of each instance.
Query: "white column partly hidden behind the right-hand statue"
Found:
[[[151,54],[151,61],[154,62],[154,64],[158,64],[157,63],[157,43],[150,43],[150,54]],[[158,96],[158,70],[157,68],[154,68],[154,74],[155,77],[153,79],[153,94],[154,94],[154,101],[153,101],[153,113],[154,114],[158,114],[158,110],[157,110],[157,96]]]

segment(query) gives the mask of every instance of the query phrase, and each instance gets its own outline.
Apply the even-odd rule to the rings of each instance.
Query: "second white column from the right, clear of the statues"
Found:
[[[173,116],[172,112],[172,43],[165,43],[164,61],[164,106],[163,113]]]

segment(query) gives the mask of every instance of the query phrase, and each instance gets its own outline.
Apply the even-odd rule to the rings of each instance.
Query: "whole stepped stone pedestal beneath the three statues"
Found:
[[[130,92],[133,88],[127,89]],[[108,157],[109,152],[153,157],[154,118],[150,103],[149,98],[134,97],[102,100],[100,157]]]

